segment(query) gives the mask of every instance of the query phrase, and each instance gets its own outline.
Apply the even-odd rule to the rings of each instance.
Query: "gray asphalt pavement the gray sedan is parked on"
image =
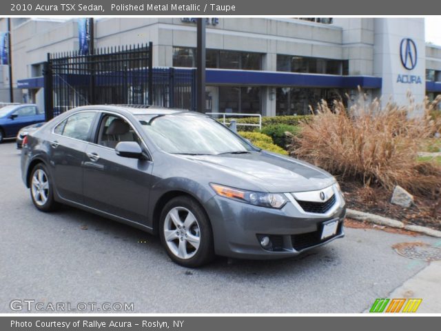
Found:
[[[0,312],[14,299],[134,303],[133,312],[363,312],[427,266],[394,243],[423,241],[347,228],[300,257],[182,268],[159,240],[74,208],[37,211],[21,181],[20,152],[0,144]],[[23,310],[23,312],[27,312]]]

